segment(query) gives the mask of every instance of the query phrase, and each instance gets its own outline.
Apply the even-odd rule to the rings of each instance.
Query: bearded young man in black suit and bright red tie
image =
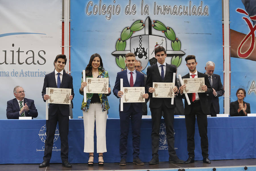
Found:
[[[188,55],[185,58],[187,62],[187,67],[189,73],[183,76],[182,78],[204,78],[205,84],[202,86],[204,93],[188,93],[189,101],[191,105],[187,104],[185,99],[185,122],[187,129],[187,151],[189,158],[185,161],[185,164],[195,162],[195,118],[197,118],[197,125],[199,130],[199,135],[201,137],[201,150],[203,156],[203,162],[210,164],[208,158],[208,137],[207,137],[207,114],[209,111],[209,105],[207,100],[207,94],[212,94],[212,87],[208,80],[206,74],[200,73],[196,70],[197,61],[194,55]],[[186,88],[186,85],[180,87],[180,94],[183,95],[183,90]]]

